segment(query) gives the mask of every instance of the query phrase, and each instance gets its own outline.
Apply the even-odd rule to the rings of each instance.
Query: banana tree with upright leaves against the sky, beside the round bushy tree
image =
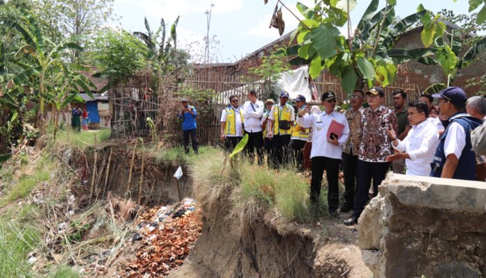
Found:
[[[156,71],[158,80],[158,93],[163,95],[162,78],[164,74],[177,67],[178,60],[177,52],[177,31],[176,27],[179,22],[179,17],[176,18],[174,24],[170,28],[170,38],[165,41],[165,21],[160,19],[160,26],[155,33],[151,30],[149,22],[145,17],[146,33],[133,32],[135,37],[139,38],[146,44],[149,49],[147,59],[151,62],[153,69]],[[160,41],[159,41],[160,38]],[[175,65],[174,65],[175,64]]]

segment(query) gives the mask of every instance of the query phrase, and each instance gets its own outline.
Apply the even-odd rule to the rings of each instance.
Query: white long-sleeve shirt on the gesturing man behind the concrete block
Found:
[[[397,139],[398,145],[394,149],[406,152],[410,159],[405,159],[407,173],[413,176],[426,176],[430,174],[435,149],[439,145],[439,133],[434,122],[425,120],[412,126],[403,141]]]

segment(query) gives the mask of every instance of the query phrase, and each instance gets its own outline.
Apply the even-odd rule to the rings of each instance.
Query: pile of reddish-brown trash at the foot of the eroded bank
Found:
[[[142,213],[139,220],[138,231],[131,240],[140,240],[142,246],[121,277],[167,275],[169,270],[182,265],[203,226],[201,209],[190,198],[173,206],[152,208]]]

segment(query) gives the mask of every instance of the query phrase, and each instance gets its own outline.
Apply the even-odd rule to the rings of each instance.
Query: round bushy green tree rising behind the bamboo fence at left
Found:
[[[99,74],[111,82],[124,82],[146,65],[148,49],[126,31],[100,31],[94,38],[93,60]]]

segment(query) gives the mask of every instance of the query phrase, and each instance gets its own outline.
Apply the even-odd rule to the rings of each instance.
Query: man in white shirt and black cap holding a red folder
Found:
[[[349,125],[346,117],[334,111],[336,106],[336,96],[334,92],[328,91],[321,97],[321,104],[324,112],[310,113],[309,108],[299,111],[297,122],[303,128],[312,127],[312,149],[310,158],[312,159],[312,179],[310,182],[310,202],[317,206],[319,195],[321,194],[322,174],[326,170],[328,179],[328,212],[329,215],[337,217],[337,206],[339,206],[339,187],[337,186],[342,152],[349,136]],[[327,136],[331,122],[337,121],[344,126],[342,135],[336,138],[331,134]]]

